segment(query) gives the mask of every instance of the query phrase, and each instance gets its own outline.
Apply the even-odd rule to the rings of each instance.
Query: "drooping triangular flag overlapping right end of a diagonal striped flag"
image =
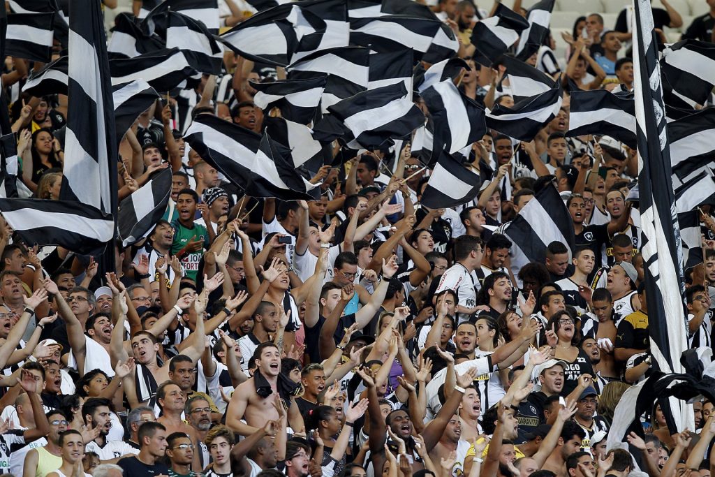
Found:
[[[264,133],[251,167],[246,193],[251,197],[280,200],[316,200],[320,187],[303,177],[290,158],[290,149]]]

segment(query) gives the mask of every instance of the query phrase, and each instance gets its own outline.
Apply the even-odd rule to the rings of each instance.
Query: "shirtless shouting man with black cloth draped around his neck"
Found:
[[[260,374],[270,384],[272,393],[265,398],[260,397],[256,392],[255,373],[254,377],[241,383],[233,393],[231,402],[228,405],[226,414],[226,426],[241,436],[250,436],[263,428],[268,421],[277,421],[280,418],[278,410],[275,408],[275,396],[278,392],[278,374],[280,373],[280,352],[273,343],[261,343],[255,350],[252,360],[256,362],[256,373]],[[302,429],[305,425],[300,418],[300,410],[295,400],[290,400],[289,418],[295,418],[299,423],[291,428]],[[241,422],[245,419],[245,423]]]

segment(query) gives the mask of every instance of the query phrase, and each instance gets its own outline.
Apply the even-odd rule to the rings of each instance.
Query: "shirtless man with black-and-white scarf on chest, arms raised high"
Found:
[[[126,361],[129,358],[129,351],[134,353],[134,359],[137,362],[137,367],[134,369],[134,375],[130,375],[128,379],[124,380],[124,392],[127,393],[127,400],[129,400],[132,408],[137,405],[146,405],[157,391],[157,383],[164,383],[164,381],[169,380],[169,363],[171,360],[167,361],[159,367],[157,363],[157,353],[159,352],[159,344],[157,343],[157,335],[162,333],[163,330],[155,330],[155,333],[150,331],[139,331],[139,333],[132,336],[131,341],[124,341],[124,320],[127,319],[127,311],[129,310],[127,305],[126,290],[119,292],[119,282],[117,280],[108,280],[112,282],[112,293],[114,293],[114,300],[112,303],[112,315],[117,316],[117,322],[114,325],[114,330],[112,330],[112,343],[111,343],[111,355],[112,363],[117,361]],[[217,287],[223,282],[223,274],[219,273],[214,275],[210,279],[204,275],[204,289],[199,295],[197,295],[194,300],[194,311],[197,317],[204,316],[204,311],[208,304],[209,293],[216,290]],[[188,298],[186,298],[188,300]],[[181,303],[181,300],[179,300]],[[115,305],[116,304],[116,305]],[[187,305],[187,303],[184,303]],[[175,313],[184,313],[181,306],[174,305]],[[171,313],[174,313],[172,311]],[[171,316],[164,315],[165,317]],[[191,358],[192,363],[196,365],[199,358],[201,358],[202,353],[206,349],[206,334],[204,328],[204,320],[195,320],[195,328],[189,338],[187,338],[186,348],[181,349],[183,355],[187,355]],[[157,327],[159,322],[155,323],[154,327]],[[141,375],[137,375],[141,373]],[[138,378],[138,379],[137,379]],[[139,383],[147,383],[147,389],[137,388]]]

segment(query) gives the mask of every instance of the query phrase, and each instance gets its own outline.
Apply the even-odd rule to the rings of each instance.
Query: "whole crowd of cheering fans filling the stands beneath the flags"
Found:
[[[656,28],[681,26],[662,3]],[[711,40],[707,3],[684,36]],[[465,44],[488,14],[469,0],[432,8]],[[564,61],[547,45],[531,64],[554,77],[566,64],[564,84],[583,89],[633,86],[625,14],[613,29],[583,16],[566,39]],[[465,94],[513,104],[503,67],[465,59]],[[611,137],[566,137],[568,91],[533,142],[488,132],[473,144],[469,167],[493,179],[468,204],[420,206],[429,171],[409,144],[322,167],[319,200],[281,202],[243,196],[174,129],[187,97],[192,114],[255,132],[275,114],[248,80],[282,72],[225,62],[233,74],[157,102],[124,137],[119,197],[166,167],[172,193],[145,240],[114,245],[114,272],[23,243],[0,220],[1,473],[711,475],[708,400],[693,403],[694,429],[671,434],[656,405],[629,451],[606,446],[621,395],[652,369],[640,217],[626,202],[637,159]],[[4,86],[27,69],[9,59]],[[21,182],[56,200],[66,98],[14,95]],[[515,152],[531,167],[513,167]],[[545,262],[519,268],[503,225],[543,187],[561,193],[576,250],[552,242]],[[691,347],[712,339],[703,209],[704,261],[686,271]]]

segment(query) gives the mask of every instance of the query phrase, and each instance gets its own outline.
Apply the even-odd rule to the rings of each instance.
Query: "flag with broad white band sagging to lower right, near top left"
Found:
[[[167,11],[167,48],[184,52],[194,69],[205,74],[219,74],[223,64],[223,48],[200,21]]]

